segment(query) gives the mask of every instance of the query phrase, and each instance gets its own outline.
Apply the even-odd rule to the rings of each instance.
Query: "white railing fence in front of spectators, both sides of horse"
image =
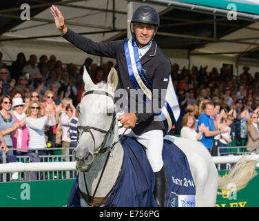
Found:
[[[61,151],[62,148],[53,148],[53,149]],[[69,148],[63,148],[63,149],[65,149],[65,155],[41,156],[42,158],[48,157],[48,160],[47,160],[48,162],[30,162],[28,161],[29,159],[28,156],[20,156],[20,157],[17,157],[17,159],[19,159],[19,162],[0,164],[0,182],[10,181],[12,174],[14,173],[19,173],[19,179],[17,179],[18,181],[26,180],[25,179],[26,173],[35,173],[35,174],[37,173],[37,180],[75,178],[77,174],[76,163],[72,158],[71,151],[69,150]],[[230,155],[212,157],[212,159],[214,160],[214,163],[217,165],[235,164],[236,162],[238,162],[238,160],[240,160],[242,155],[247,155],[247,160],[258,161],[258,163],[256,164],[256,167],[259,167],[259,154],[256,154],[256,152],[252,154],[250,153],[250,155],[247,155],[246,152],[243,152],[243,153],[239,152],[238,153],[239,155],[237,153],[234,153],[233,155],[231,155],[230,153]],[[4,156],[3,154],[3,159],[5,159],[5,157],[6,156]],[[25,157],[27,157],[27,160],[25,160]],[[6,161],[3,160],[3,162],[6,162]]]

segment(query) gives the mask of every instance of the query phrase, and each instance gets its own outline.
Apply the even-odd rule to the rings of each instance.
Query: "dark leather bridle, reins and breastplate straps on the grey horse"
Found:
[[[110,95],[110,93],[107,93],[103,90],[89,90],[85,93],[84,96],[86,95],[90,95],[90,94],[98,94],[98,95],[105,95],[105,96],[108,96],[108,97],[111,97],[113,102],[114,102],[114,97],[112,95]],[[79,189],[79,193],[80,195],[82,196],[82,198],[85,200],[85,202],[87,202],[87,204],[91,207],[96,207],[96,206],[101,206],[101,204],[103,204],[105,202],[105,200],[107,200],[108,196],[110,195],[110,193],[112,192],[112,189],[114,189],[114,186],[116,185],[116,183],[118,182],[118,178],[120,177],[120,174],[121,172],[118,174],[118,177],[116,179],[116,182],[114,184],[114,186],[112,187],[112,189],[107,193],[107,195],[105,195],[104,198],[102,198],[100,200],[100,202],[97,202],[97,203],[94,203],[94,200],[95,200],[95,195],[96,195],[96,191],[99,187],[99,184],[101,182],[101,179],[103,177],[103,173],[105,171],[105,168],[106,168],[106,165],[107,165],[107,162],[110,158],[110,153],[112,152],[114,146],[119,142],[119,140],[121,139],[121,137],[123,137],[123,135],[125,134],[125,132],[127,131],[127,128],[125,129],[125,131],[123,132],[123,134],[118,138],[118,140],[116,142],[114,142],[112,145],[110,146],[106,146],[107,142],[110,141],[110,138],[112,137],[112,133],[114,131],[114,126],[116,125],[116,111],[115,111],[115,108],[114,108],[114,111],[112,113],[112,123],[110,125],[110,128],[108,131],[104,131],[103,129],[100,129],[100,128],[96,128],[94,126],[77,126],[77,134],[79,136],[79,129],[83,130],[81,135],[83,135],[83,133],[90,133],[91,137],[92,137],[92,140],[94,141],[94,150],[96,149],[95,148],[95,139],[94,139],[94,135],[92,133],[91,130],[94,130],[94,131],[99,131],[101,133],[104,133],[105,134],[105,138],[103,139],[103,142],[101,143],[101,145],[99,146],[99,148],[97,149],[97,151],[94,151],[94,155],[99,155],[99,153],[105,153],[106,151],[108,151],[108,154],[107,154],[107,157],[106,157],[106,160],[105,160],[105,164],[103,166],[103,169],[101,171],[101,175],[99,177],[99,181],[97,182],[96,184],[96,188],[94,190],[94,193],[93,195],[91,196],[90,193],[89,193],[89,190],[87,188],[87,184],[86,184],[86,178],[85,178],[85,173],[83,173],[83,177],[84,177],[84,182],[85,182],[85,189],[87,191],[87,194],[83,193],[83,191],[81,191]],[[122,126],[121,126],[122,127]],[[81,136],[80,135],[80,136]],[[78,137],[78,140],[79,140],[79,137]]]

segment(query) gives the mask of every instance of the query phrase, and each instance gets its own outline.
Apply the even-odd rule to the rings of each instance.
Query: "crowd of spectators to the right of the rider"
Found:
[[[172,79],[180,105],[174,134],[202,142],[210,153],[216,145],[229,144],[256,151],[259,72],[252,75],[244,66],[236,77],[225,67],[209,72],[207,66],[180,70],[178,64],[173,64]],[[220,148],[220,153],[226,151],[227,148]]]

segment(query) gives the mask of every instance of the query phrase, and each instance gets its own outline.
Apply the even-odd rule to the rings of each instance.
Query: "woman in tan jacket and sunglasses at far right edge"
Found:
[[[259,146],[258,114],[252,113],[247,122],[247,151],[256,151]]]

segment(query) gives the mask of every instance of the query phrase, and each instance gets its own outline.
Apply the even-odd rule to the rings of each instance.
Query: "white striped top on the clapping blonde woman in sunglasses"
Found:
[[[51,116],[51,120],[46,116],[39,118],[27,117],[25,124],[29,133],[28,148],[46,148],[45,126],[54,126],[56,124],[54,115]]]

